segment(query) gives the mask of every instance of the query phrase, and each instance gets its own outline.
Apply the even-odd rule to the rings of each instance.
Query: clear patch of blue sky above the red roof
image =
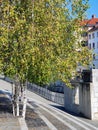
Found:
[[[89,6],[87,18],[90,19],[93,14],[98,18],[98,0],[89,0]]]

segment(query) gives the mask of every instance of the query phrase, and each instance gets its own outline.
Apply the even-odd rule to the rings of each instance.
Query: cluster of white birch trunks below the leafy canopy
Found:
[[[23,85],[23,83],[19,82],[18,77],[15,79],[15,86],[12,86],[12,98],[13,98],[13,115],[19,116],[20,115],[20,101],[23,105],[22,108],[22,117],[25,118],[26,114],[26,105],[27,105],[27,98],[26,98],[26,86],[27,84]],[[20,99],[19,99],[20,97]]]

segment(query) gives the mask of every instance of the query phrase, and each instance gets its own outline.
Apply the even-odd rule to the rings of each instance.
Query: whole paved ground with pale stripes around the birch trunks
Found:
[[[0,80],[0,130],[98,130],[98,121],[71,115],[62,106],[27,90],[26,118],[13,117],[11,84]]]

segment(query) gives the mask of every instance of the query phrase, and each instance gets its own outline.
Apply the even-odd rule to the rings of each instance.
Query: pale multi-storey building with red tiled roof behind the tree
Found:
[[[82,27],[84,29],[83,42],[85,46],[88,46],[92,50],[92,64],[93,69],[98,69],[98,18],[92,15],[89,20],[82,21]]]

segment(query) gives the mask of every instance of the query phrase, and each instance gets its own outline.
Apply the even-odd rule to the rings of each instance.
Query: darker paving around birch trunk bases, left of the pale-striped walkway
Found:
[[[11,100],[0,90],[0,130],[49,130],[34,109],[27,106],[26,118],[14,117]]]

